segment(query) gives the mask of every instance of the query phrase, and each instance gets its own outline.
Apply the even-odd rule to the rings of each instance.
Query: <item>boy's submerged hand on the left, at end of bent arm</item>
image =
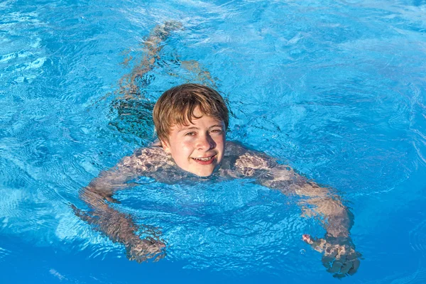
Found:
[[[127,258],[131,261],[142,263],[154,258],[159,261],[165,257],[165,244],[163,241],[155,240],[153,238],[138,239],[126,246]]]

